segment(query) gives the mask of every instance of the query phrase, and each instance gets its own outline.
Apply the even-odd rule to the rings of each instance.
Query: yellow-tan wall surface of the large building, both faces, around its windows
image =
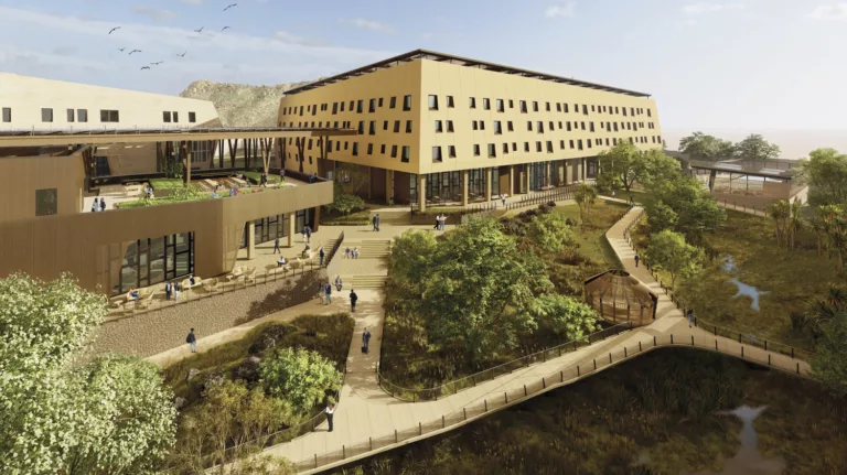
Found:
[[[403,97],[412,95],[411,111],[403,110]],[[438,110],[429,110],[428,96],[437,95]],[[453,108],[447,107],[447,97],[452,96]],[[371,98],[383,98],[383,107],[376,112],[368,112]],[[390,109],[390,97],[397,97],[397,107]],[[476,99],[476,108],[470,108],[470,98]],[[485,110],[483,99],[490,99],[491,109]],[[363,114],[356,114],[349,109],[350,100],[364,100]],[[496,99],[503,99],[505,110],[496,111]],[[508,107],[508,100],[513,107]],[[527,114],[519,109],[521,100],[527,102]],[[345,101],[344,112],[332,114],[333,102]],[[533,101],[538,101],[539,111],[533,111]],[[550,111],[546,110],[550,102]],[[569,112],[557,111],[556,102],[568,104]],[[326,110],[321,110],[322,105]],[[579,105],[577,112],[575,105]],[[582,105],[588,105],[588,115],[582,114]],[[303,106],[303,115],[299,115],[299,107]],[[307,106],[317,106],[317,112],[307,112]],[[591,111],[591,106],[594,111]],[[601,112],[600,107],[618,107],[619,114]],[[286,108],[297,108],[296,115],[286,115]],[[626,108],[624,117],[620,108]],[[641,108],[643,114],[632,116],[631,108]],[[647,116],[650,111],[650,116]],[[637,143],[642,149],[661,148],[661,127],[656,104],[646,97],[628,96],[587,87],[571,86],[567,84],[510,75],[480,68],[467,67],[448,62],[435,62],[417,60],[401,63],[385,69],[352,77],[335,84],[325,85],[315,89],[286,96],[280,101],[279,121],[283,125],[334,126],[339,121],[350,121],[351,128],[357,128],[361,120],[365,121],[365,134],[342,140],[351,142],[350,149],[337,151],[333,148],[330,158],[342,162],[353,162],[377,166],[388,170],[398,170],[410,173],[433,173],[453,170],[470,170],[495,165],[521,164],[550,160],[575,159],[594,156],[603,150],[608,150],[605,139],[610,144],[613,138],[629,139],[630,137],[646,137],[646,143]],[[369,122],[376,121],[377,130],[371,136]],[[383,130],[383,122],[388,120],[388,130]],[[400,120],[400,132],[394,132],[395,120]],[[406,120],[412,120],[412,133],[406,133]],[[444,132],[435,131],[436,120],[442,121]],[[453,121],[454,132],[447,132],[447,120]],[[484,121],[485,129],[474,131],[472,121]],[[501,121],[502,134],[494,133],[494,121]],[[514,131],[510,132],[507,122],[513,122]],[[533,131],[527,131],[527,121],[533,122]],[[537,132],[537,122],[544,122],[544,133]],[[549,129],[549,122],[554,122],[554,130]],[[561,129],[559,122],[561,121]],[[572,130],[567,131],[567,122],[571,122]],[[586,122],[586,130],[581,123]],[[594,125],[594,132],[590,131],[590,123]],[[619,131],[607,131],[601,128],[601,122],[618,122]],[[624,123],[622,127],[621,122]],[[639,130],[626,130],[626,122],[636,122],[643,127]],[[575,128],[575,123],[578,129]],[[654,125],[654,129],[648,128]],[[613,127],[612,127],[613,130]],[[589,140],[602,139],[602,145],[588,147]],[[560,141],[565,140],[565,150],[560,148]],[[573,149],[570,140],[575,141]],[[577,141],[583,141],[583,149],[578,150]],[[358,156],[352,155],[352,143],[358,142]],[[536,152],[536,141],[542,141],[543,151]],[[553,152],[547,152],[547,141],[553,142]],[[517,144],[517,151],[512,151],[512,143]],[[524,142],[529,143],[529,152],[524,152]],[[374,144],[374,154],[367,155],[368,143]],[[380,145],[385,143],[386,154],[380,153]],[[496,158],[487,156],[487,144],[494,143]],[[503,143],[510,144],[510,153],[503,153]],[[398,158],[390,158],[390,145],[397,144],[411,147],[409,163],[400,162]],[[480,155],[474,156],[473,145],[480,145]],[[442,162],[432,162],[432,147],[441,147]],[[457,158],[449,158],[449,145],[455,147]],[[288,152],[294,156],[296,148],[288,145]],[[311,170],[309,156],[317,159],[320,151],[313,148],[312,153],[307,151],[304,171]],[[313,160],[314,162],[314,160]],[[294,161],[287,161],[287,168],[294,168]],[[317,171],[317,166],[314,169]]]

